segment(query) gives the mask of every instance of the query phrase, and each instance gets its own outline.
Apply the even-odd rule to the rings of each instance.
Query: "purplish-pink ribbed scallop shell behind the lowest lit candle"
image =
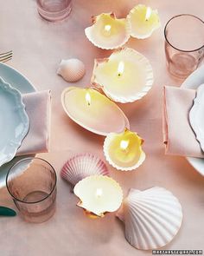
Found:
[[[61,169],[61,177],[73,186],[90,175],[109,176],[105,162],[94,154],[74,155]]]

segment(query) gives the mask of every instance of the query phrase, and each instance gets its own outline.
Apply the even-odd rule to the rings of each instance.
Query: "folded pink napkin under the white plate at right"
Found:
[[[204,158],[188,119],[195,95],[194,89],[169,86],[163,89],[163,141],[166,154]]]

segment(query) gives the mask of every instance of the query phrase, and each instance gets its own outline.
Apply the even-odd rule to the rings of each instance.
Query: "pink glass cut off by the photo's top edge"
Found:
[[[36,0],[39,14],[50,22],[66,18],[72,10],[72,0]]]

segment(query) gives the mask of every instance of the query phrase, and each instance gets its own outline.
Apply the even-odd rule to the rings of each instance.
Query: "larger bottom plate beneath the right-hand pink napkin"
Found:
[[[182,83],[182,88],[197,89],[204,83],[204,65],[196,69],[194,73]],[[202,175],[204,175],[204,159],[196,157],[187,157],[189,163]]]

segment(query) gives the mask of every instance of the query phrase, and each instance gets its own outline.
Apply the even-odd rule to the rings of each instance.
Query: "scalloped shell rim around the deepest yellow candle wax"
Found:
[[[139,159],[136,161],[132,161],[132,165],[130,166],[126,166],[125,162],[116,162],[112,160],[112,156],[110,154],[110,148],[112,145],[112,141],[115,139],[116,136],[121,135],[124,137],[124,133],[131,133],[134,134],[137,137],[137,141],[140,141],[139,144],[136,144],[135,147],[138,147],[139,152],[140,152],[140,156]],[[132,171],[135,170],[137,167],[140,167],[143,163],[143,161],[146,158],[146,154],[143,152],[142,149],[142,144],[143,144],[143,139],[140,138],[137,133],[131,132],[130,130],[128,130],[127,128],[125,129],[124,133],[121,134],[116,134],[116,133],[110,133],[109,135],[106,136],[105,141],[104,141],[104,154],[105,154],[105,159],[106,161],[109,162],[110,165],[112,165],[112,167],[115,167],[116,169],[120,170],[120,171]],[[123,166],[122,166],[123,165]]]

